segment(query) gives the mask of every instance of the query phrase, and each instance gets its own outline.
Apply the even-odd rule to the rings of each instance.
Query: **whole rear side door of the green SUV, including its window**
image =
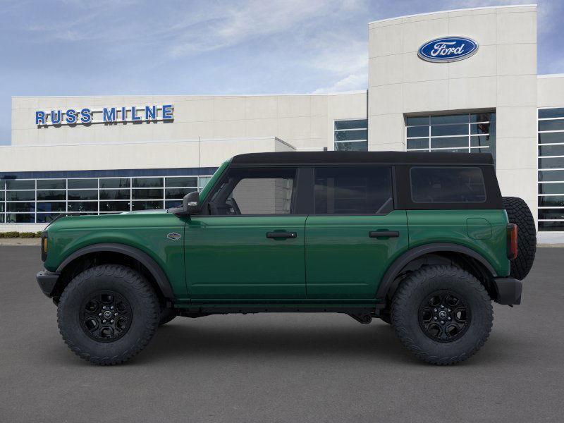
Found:
[[[307,298],[375,298],[408,245],[406,213],[393,209],[391,168],[315,168],[305,238]]]

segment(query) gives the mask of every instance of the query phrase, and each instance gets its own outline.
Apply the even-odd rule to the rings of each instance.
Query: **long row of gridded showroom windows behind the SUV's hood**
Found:
[[[211,176],[0,180],[0,223],[49,223],[59,214],[178,207]]]

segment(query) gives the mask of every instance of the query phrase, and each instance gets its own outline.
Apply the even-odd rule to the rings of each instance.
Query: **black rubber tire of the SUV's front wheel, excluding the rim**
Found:
[[[96,341],[80,323],[87,299],[100,290],[111,290],[127,300],[131,310],[128,330],[111,342]],[[92,364],[121,364],[147,346],[159,324],[159,300],[152,286],[127,266],[103,264],[83,271],[66,286],[57,311],[59,331],[68,348]]]

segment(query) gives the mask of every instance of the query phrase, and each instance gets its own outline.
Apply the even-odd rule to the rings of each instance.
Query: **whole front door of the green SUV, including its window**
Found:
[[[305,298],[305,215],[295,168],[230,168],[185,226],[191,298]]]

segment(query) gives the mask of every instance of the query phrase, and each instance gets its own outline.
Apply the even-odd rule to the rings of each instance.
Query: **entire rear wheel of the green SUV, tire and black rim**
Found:
[[[477,353],[494,320],[482,283],[457,266],[428,266],[400,284],[392,324],[419,359],[454,364]]]

